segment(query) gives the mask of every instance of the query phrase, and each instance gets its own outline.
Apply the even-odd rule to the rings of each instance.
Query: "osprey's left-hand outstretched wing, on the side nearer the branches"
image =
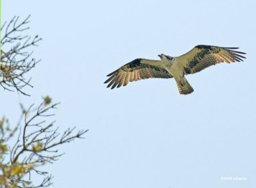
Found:
[[[148,78],[172,78],[172,75],[165,70],[161,61],[150,59],[134,59],[130,63],[118,68],[111,74],[108,74],[109,79],[104,84],[110,82],[107,86],[114,89],[116,86],[126,86],[129,82],[140,81]]]

